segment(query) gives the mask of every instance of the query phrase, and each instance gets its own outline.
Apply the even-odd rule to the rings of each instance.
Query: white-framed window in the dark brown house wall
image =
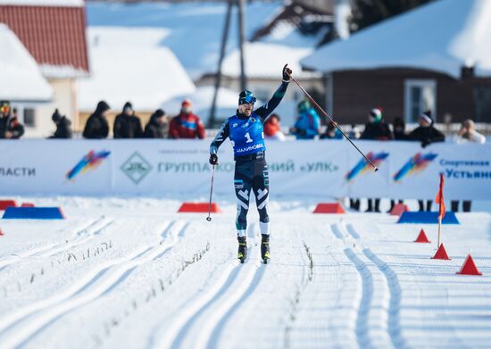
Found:
[[[431,79],[407,79],[404,81],[404,119],[417,122],[421,112],[437,115],[437,81]]]

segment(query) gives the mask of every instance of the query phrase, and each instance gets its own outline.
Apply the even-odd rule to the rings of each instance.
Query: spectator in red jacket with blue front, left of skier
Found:
[[[178,116],[171,120],[169,127],[169,137],[179,138],[199,138],[204,139],[204,125],[199,117],[193,113],[193,104],[188,99],[182,102],[182,108]]]

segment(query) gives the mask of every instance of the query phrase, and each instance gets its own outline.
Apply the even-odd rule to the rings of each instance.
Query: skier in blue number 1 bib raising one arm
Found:
[[[242,91],[238,96],[238,109],[235,115],[229,117],[221,125],[217,136],[210,146],[210,163],[218,163],[218,148],[230,138],[234,148],[236,170],[234,184],[237,195],[237,258],[244,262],[247,258],[247,243],[245,232],[247,229],[247,212],[249,210],[249,197],[254,191],[255,202],[259,212],[259,227],[261,229],[261,257],[262,262],[270,260],[270,217],[268,216],[268,199],[270,179],[268,165],[265,159],[266,146],[264,145],[263,123],[279,105],[287,92],[290,74],[292,71],[283,67],[283,81],[267,104],[254,111],[256,98],[250,91]],[[251,190],[252,189],[252,190]]]

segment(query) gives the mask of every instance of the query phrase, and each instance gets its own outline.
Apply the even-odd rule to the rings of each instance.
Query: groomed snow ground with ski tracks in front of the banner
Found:
[[[18,197],[59,221],[1,220],[0,347],[488,347],[491,214],[444,226],[387,214],[312,215],[272,200],[269,265],[257,213],[235,260],[235,205],[175,213],[183,198]],[[195,198],[203,200],[204,198]],[[424,228],[432,244],[412,240]],[[456,275],[471,251],[481,277]]]

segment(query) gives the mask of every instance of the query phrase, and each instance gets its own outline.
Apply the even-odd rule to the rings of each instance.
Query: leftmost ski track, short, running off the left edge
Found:
[[[51,244],[48,246],[43,246],[38,249],[35,249],[34,251],[30,251],[30,253],[15,255],[13,258],[12,257],[7,258],[4,261],[0,262],[0,271],[4,270],[5,268],[11,266],[16,262],[26,261],[30,257],[52,256],[56,253],[61,253],[63,251],[69,250],[72,247],[84,244],[94,236],[99,235],[104,229],[108,228],[114,222],[114,220],[105,220],[104,221],[105,224],[103,224],[102,227],[99,227],[97,223],[101,221],[104,221],[104,216],[99,217],[96,220],[93,220],[85,228],[79,229],[79,231],[76,233],[77,237],[68,244],[67,243]],[[70,228],[63,229],[63,231],[64,230],[70,230]],[[82,234],[84,233],[86,236],[82,237]]]

